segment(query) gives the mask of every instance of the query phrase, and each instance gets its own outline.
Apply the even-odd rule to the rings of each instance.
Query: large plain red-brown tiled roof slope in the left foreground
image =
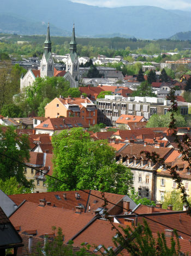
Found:
[[[37,230],[37,236],[52,234],[52,226],[61,227],[67,242],[92,219],[92,215],[25,202],[9,219],[14,226],[21,227],[21,232]]]

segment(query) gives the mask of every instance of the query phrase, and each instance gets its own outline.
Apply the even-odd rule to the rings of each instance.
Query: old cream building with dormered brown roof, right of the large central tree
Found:
[[[171,147],[160,147],[158,143],[155,146],[129,143],[116,153],[116,161],[130,168],[133,173],[134,188],[138,195],[156,201],[155,173],[160,164],[148,160],[145,153],[141,151],[156,152],[160,158],[165,159],[173,150]]]

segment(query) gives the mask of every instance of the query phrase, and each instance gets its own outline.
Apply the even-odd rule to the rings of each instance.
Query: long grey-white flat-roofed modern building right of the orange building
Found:
[[[178,102],[181,115],[188,115],[188,104]],[[144,116],[148,120],[153,114],[165,115],[170,100],[157,97],[128,97],[121,95],[105,95],[105,99],[97,99],[98,123],[115,125],[121,115]]]

